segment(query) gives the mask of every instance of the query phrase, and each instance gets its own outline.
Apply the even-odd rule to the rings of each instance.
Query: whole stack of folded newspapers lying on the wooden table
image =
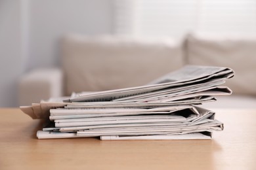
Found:
[[[234,71],[226,67],[187,65],[146,86],[74,93],[20,109],[32,118],[50,120],[37,131],[39,139],[211,139],[223,123],[215,120],[215,112],[199,106],[217,95],[230,95],[220,85],[232,76]]]

